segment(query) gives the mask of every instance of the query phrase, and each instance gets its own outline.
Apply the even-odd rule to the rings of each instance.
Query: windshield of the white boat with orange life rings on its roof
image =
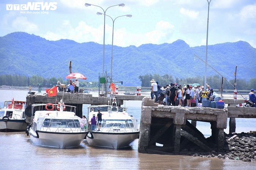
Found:
[[[44,127],[80,127],[78,119],[45,119]]]

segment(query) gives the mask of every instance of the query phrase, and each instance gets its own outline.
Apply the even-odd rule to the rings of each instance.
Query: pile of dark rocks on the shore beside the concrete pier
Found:
[[[256,161],[256,131],[250,131],[249,133],[242,132],[239,134],[225,133],[225,139],[224,151],[222,153],[212,151],[211,153],[195,153],[187,155],[193,157]],[[214,150],[217,150],[217,148],[214,148]]]

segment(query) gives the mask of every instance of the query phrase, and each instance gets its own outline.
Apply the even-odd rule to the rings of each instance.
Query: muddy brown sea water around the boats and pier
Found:
[[[45,91],[42,91],[45,93]],[[5,100],[26,100],[26,90],[0,90],[0,106]],[[93,94],[97,96],[97,93]],[[83,114],[87,115],[87,104]],[[140,122],[141,101],[125,101],[129,115]],[[255,119],[236,119],[236,132],[256,130]],[[228,125],[227,125],[228,126]],[[197,128],[210,136],[210,123],[197,121]],[[229,129],[225,129],[228,133]],[[25,132],[0,133],[0,169],[255,169],[256,162],[202,158],[182,155],[138,153],[138,139],[128,149],[113,150],[87,145],[83,140],[73,149],[33,145]]]

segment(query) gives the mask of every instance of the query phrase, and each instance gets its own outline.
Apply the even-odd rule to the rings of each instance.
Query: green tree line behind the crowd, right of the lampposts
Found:
[[[160,86],[166,86],[170,83],[177,83],[178,85],[183,86],[183,84],[193,84],[193,83],[199,83],[201,85],[204,84],[204,76],[196,76],[196,77],[188,77],[188,78],[176,78],[172,75],[159,75],[159,74],[146,74],[139,76],[140,81],[142,82],[142,87],[151,87],[151,80],[154,79],[155,81],[158,81],[158,84]],[[230,83],[229,83],[230,82]],[[234,82],[235,79],[230,79],[229,82],[225,79],[223,79],[223,89],[225,90],[234,90]],[[208,76],[206,78],[206,83],[210,85],[213,89],[219,89],[221,88],[222,84],[222,76],[220,75],[213,75]],[[231,84],[233,86],[231,86]],[[250,80],[244,80],[244,79],[236,79],[236,88],[237,90],[251,90],[252,88],[256,88],[256,78],[252,78]]]

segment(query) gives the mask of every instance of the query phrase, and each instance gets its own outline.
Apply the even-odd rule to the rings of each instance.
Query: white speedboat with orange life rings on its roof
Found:
[[[88,131],[75,114],[75,106],[62,104],[32,104],[31,127],[27,134],[35,145],[69,148],[79,146]],[[64,111],[68,110],[68,111]]]

